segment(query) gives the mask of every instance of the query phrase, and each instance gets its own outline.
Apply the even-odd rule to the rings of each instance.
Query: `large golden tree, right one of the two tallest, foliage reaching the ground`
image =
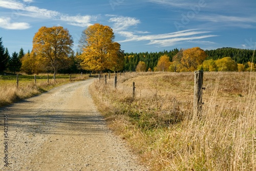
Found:
[[[81,66],[89,71],[106,69],[122,70],[124,54],[120,44],[114,42],[114,33],[109,26],[94,24],[82,32],[79,47],[82,49]]]

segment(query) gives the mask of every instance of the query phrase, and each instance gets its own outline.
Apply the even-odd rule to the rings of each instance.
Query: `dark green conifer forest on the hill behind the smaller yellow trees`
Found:
[[[146,63],[147,70],[154,69],[157,66],[158,59],[162,55],[167,55],[170,57],[170,61],[173,60],[173,57],[179,52],[179,49],[173,49],[170,51],[163,52],[140,52],[140,53],[125,53],[125,62],[124,62],[124,70],[125,71],[135,71],[136,66],[139,61],[143,61]],[[231,57],[237,63],[247,63],[251,61],[253,50],[246,49],[236,49],[236,48],[219,48],[216,50],[205,50],[207,54],[206,59],[221,59],[223,57]],[[253,60],[256,63],[256,57]]]

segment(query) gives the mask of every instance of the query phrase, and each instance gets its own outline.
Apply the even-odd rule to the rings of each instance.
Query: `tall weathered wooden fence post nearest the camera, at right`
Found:
[[[201,117],[202,112],[202,86],[203,86],[203,74],[202,70],[195,71],[194,81],[194,114]]]

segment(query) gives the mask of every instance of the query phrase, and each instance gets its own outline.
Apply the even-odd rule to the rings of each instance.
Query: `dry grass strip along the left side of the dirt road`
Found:
[[[24,76],[18,82],[18,88],[16,87],[16,80],[0,80],[0,107],[11,104],[18,100],[26,99],[44,93],[54,87],[60,86],[61,84],[68,83],[70,81],[88,79],[89,75],[83,75],[73,79],[67,78],[56,78],[49,79],[36,79],[36,83],[31,76]]]

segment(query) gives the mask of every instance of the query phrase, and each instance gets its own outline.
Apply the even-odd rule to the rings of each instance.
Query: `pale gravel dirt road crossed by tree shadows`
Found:
[[[0,170],[147,170],[106,127],[88,92],[93,81],[0,108]]]

